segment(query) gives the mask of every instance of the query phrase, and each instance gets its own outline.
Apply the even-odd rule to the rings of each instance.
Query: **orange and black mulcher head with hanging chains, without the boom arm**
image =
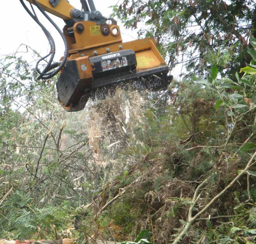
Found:
[[[69,49],[74,53],[70,54],[56,83],[59,102],[67,111],[84,109],[89,98],[95,101],[113,96],[116,87],[124,90],[167,89],[172,76],[168,76],[168,66],[153,38],[123,43],[116,25],[110,25],[109,29],[115,28],[117,33],[110,31],[106,36],[101,33],[102,28],[96,31],[95,22],[79,23],[82,24],[93,36],[98,34],[99,39],[97,43],[87,43],[88,39],[83,41],[82,34],[76,33],[75,25],[75,41],[67,37]],[[104,42],[106,37],[108,42]],[[86,42],[87,46],[79,41]]]

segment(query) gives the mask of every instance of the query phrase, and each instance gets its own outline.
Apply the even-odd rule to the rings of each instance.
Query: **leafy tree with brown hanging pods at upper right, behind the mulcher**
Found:
[[[251,61],[246,39],[255,35],[253,1],[119,0],[112,8],[127,28],[145,23],[138,36],[156,39],[171,70],[182,62],[186,73],[206,74],[214,64],[234,77]]]

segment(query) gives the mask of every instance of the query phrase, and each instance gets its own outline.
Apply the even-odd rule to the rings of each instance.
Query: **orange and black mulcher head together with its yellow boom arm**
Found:
[[[88,0],[89,5],[81,0],[83,11],[66,0],[29,1],[40,3],[44,10],[66,22],[63,33],[68,54],[62,58],[62,63],[65,59],[66,62],[56,86],[59,103],[67,111],[84,109],[89,97],[95,100],[113,95],[116,86],[136,90],[167,89],[172,76],[168,77],[168,66],[153,38],[123,43],[117,22],[103,17],[92,0]],[[107,24],[108,20],[111,24]],[[48,71],[58,65],[61,62],[50,65]]]

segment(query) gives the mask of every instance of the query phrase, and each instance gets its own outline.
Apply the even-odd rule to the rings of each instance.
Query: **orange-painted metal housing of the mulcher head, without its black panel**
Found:
[[[102,31],[103,28],[109,29],[109,34],[104,34]],[[143,71],[153,70],[153,73],[157,74],[159,68],[160,72],[168,72],[167,64],[156,48],[156,42],[153,38],[123,43],[118,25],[97,25],[96,22],[92,21],[75,23],[73,26],[73,35],[67,34],[67,26],[65,26],[63,33],[65,33],[69,45],[68,60],[76,60],[80,75],[80,85],[73,94],[73,97],[80,97],[80,100],[70,99],[68,103],[63,103],[59,99],[60,104],[67,111],[83,109],[89,98],[90,88],[94,82],[92,74],[94,64],[89,63],[90,57],[111,54],[119,50],[132,49],[137,59],[136,76],[139,77]]]

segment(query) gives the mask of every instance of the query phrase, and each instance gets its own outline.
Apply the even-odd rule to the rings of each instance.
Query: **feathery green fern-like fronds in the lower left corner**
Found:
[[[70,212],[69,206],[62,204],[58,208],[49,206],[38,209],[33,206],[32,197],[19,190],[5,200],[2,205],[5,218],[8,219],[6,224],[15,239],[26,240],[37,232],[38,226],[41,229],[50,230],[52,224],[58,229],[70,225],[67,220],[67,214]],[[49,232],[49,236],[54,236],[52,231]],[[2,233],[2,237],[5,237],[5,234],[8,233]]]

